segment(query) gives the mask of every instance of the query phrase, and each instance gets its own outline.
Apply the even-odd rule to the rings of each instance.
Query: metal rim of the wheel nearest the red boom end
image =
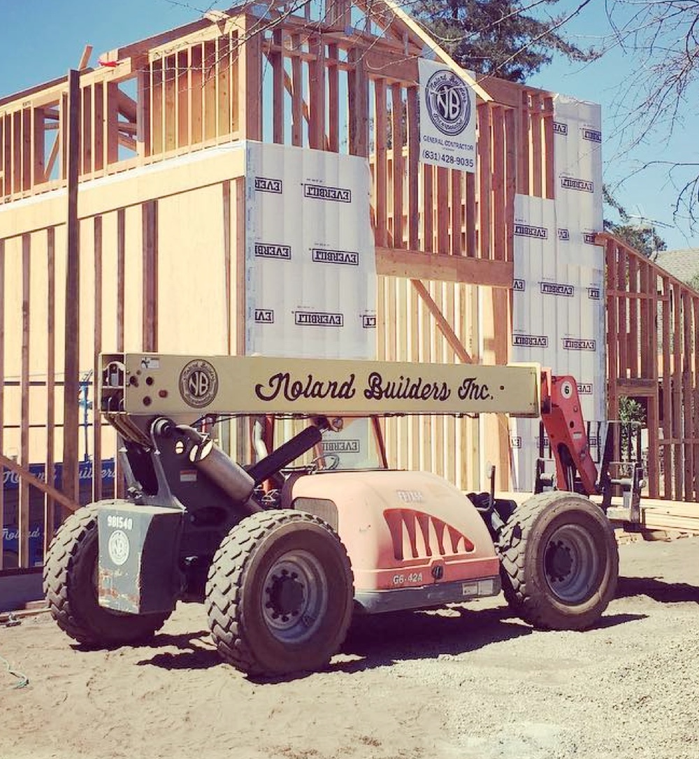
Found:
[[[582,603],[597,587],[600,557],[592,535],[578,524],[553,531],[543,554],[546,583],[564,603]]]

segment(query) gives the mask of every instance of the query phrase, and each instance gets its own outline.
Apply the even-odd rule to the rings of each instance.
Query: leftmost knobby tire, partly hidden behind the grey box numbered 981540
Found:
[[[105,648],[142,643],[170,614],[121,614],[99,606],[98,505],[77,509],[58,528],[44,563],[44,595],[58,627],[78,643]]]

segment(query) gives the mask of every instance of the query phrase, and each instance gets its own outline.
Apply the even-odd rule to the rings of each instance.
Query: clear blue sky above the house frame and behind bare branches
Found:
[[[175,2],[175,0],[0,0],[0,96],[59,77],[77,65],[83,47],[94,47],[97,55],[120,45],[143,39],[200,17],[209,6],[226,8],[232,2]],[[577,0],[564,0],[560,10],[578,7]],[[599,46],[609,35],[603,0],[592,0],[564,27],[581,47]],[[556,11],[559,12],[559,11]],[[638,58],[619,49],[592,64],[571,64],[556,58],[530,83],[535,87],[598,102],[603,107],[604,178],[616,189],[616,197],[629,213],[669,226],[658,229],[669,248],[699,247],[686,228],[677,228],[672,209],[678,181],[666,168],[638,172],[653,160],[697,160],[696,128],[681,126],[672,139],[658,134],[645,144],[628,150],[619,133],[619,102],[635,76]]]

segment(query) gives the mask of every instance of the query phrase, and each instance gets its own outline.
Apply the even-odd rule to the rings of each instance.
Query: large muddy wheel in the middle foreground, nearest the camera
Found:
[[[345,546],[291,509],[245,518],[209,568],[206,613],[222,658],[254,676],[322,669],[347,635],[354,587]]]

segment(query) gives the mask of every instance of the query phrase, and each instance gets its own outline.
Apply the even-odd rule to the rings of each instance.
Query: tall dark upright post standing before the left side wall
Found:
[[[77,178],[80,168],[80,74],[68,71],[68,247],[65,266],[65,380],[63,385],[63,475],[61,490],[77,501],[78,393],[80,385],[80,222]]]

